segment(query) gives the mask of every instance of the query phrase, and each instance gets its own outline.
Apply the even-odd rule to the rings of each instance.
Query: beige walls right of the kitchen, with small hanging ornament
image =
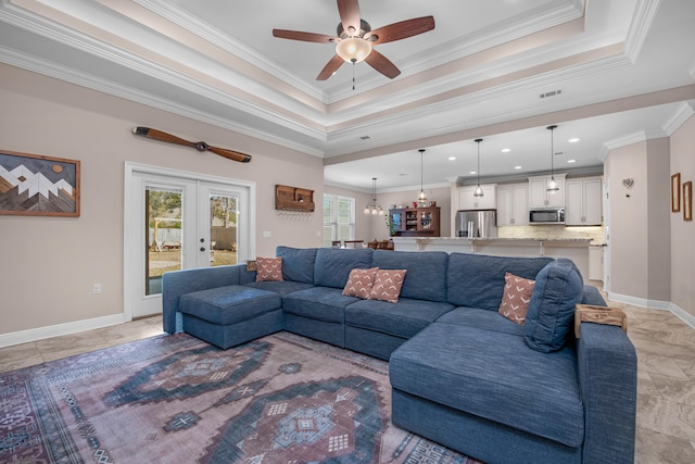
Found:
[[[610,151],[606,163],[610,198],[610,293],[656,308],[695,315],[695,227],[670,212],[670,176],[695,178],[695,118],[670,138]],[[631,177],[627,189],[622,179]]]

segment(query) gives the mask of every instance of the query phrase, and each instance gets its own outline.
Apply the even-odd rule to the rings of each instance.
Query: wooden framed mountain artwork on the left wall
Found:
[[[0,150],[0,214],[79,216],[79,161]]]

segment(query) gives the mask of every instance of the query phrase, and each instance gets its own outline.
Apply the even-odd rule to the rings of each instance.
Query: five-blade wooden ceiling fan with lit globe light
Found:
[[[336,55],[318,73],[316,80],[326,80],[344,63],[366,61],[371,67],[393,79],[401,71],[372,46],[417,36],[434,28],[433,16],[415,17],[371,30],[369,23],[359,16],[358,0],[338,0],[340,24],[338,37],[299,30],[273,29],[273,36],[305,42],[336,43]]]

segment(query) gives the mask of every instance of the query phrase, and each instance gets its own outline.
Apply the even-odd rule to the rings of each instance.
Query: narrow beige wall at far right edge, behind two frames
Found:
[[[670,175],[681,173],[681,181],[695,184],[695,116],[671,136]],[[670,213],[671,301],[695,316],[695,222],[683,213]]]

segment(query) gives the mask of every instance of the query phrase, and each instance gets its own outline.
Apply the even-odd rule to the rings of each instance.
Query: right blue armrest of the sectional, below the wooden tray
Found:
[[[582,323],[577,340],[584,404],[583,462],[634,462],[637,356],[620,327]]]

